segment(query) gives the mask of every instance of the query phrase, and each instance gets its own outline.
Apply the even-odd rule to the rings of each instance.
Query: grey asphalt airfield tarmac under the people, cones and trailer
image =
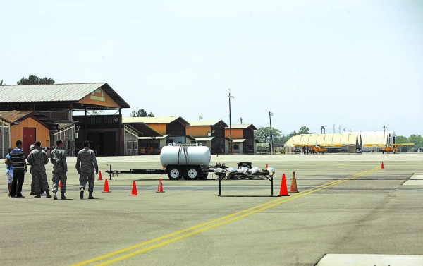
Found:
[[[161,169],[157,156],[98,161],[103,179],[107,164]],[[218,197],[212,175],[170,181],[121,174],[109,181],[111,193],[96,180],[96,199],[80,200],[75,159],[68,158],[69,200],[32,198],[29,173],[27,198],[9,199],[6,176],[0,179],[0,265],[314,265],[325,254],[423,254],[423,186],[403,186],[423,173],[423,155],[234,155],[214,162],[275,167],[275,195],[281,174],[289,186],[295,171],[300,193],[226,198]],[[50,173],[51,164],[51,186]],[[159,178],[165,193],[155,193]],[[133,180],[139,196],[129,195]],[[222,188],[223,195],[257,196],[271,189],[267,180],[225,180]]]

